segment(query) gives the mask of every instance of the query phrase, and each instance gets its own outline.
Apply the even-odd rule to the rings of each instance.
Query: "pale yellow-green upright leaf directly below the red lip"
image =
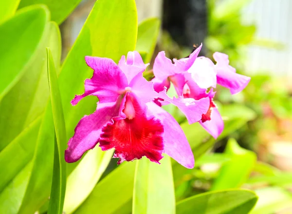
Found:
[[[175,214],[175,195],[169,156],[153,163],[137,161],[134,179],[133,214]]]

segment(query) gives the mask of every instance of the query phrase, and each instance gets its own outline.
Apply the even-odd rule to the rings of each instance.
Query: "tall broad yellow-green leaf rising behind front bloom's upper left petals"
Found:
[[[67,136],[73,136],[78,121],[96,109],[96,98],[86,97],[78,105],[70,101],[84,92],[84,80],[91,78],[92,69],[85,56],[112,58],[118,62],[122,55],[135,50],[137,11],[134,0],[98,0],[94,4],[59,76]]]

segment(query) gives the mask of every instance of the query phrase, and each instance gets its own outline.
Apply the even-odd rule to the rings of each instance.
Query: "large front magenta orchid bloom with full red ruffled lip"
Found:
[[[194,156],[177,121],[153,100],[161,98],[177,105],[192,122],[208,111],[209,98],[200,100],[168,97],[157,93],[153,82],[143,78],[147,64],[138,52],[129,52],[118,65],[109,58],[85,57],[94,72],[85,80],[85,92],[73,98],[76,105],[83,97],[99,99],[97,108],[77,124],[68,142],[65,160],[75,162],[97,143],[103,151],[114,148],[118,164],[146,156],[159,163],[165,153],[186,168],[194,167]]]

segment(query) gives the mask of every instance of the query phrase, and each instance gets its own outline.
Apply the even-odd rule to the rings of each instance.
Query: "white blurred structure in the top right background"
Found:
[[[247,71],[269,72],[292,82],[292,0],[252,0],[244,8],[242,18],[256,24],[256,39],[284,45],[282,50],[251,45]]]

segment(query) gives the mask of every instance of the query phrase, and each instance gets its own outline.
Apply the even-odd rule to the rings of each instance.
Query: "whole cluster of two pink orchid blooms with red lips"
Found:
[[[122,56],[116,64],[109,58],[85,57],[93,69],[91,79],[85,80],[85,92],[73,98],[76,105],[83,97],[93,95],[99,102],[94,113],[84,116],[68,142],[65,160],[75,162],[97,143],[103,151],[114,148],[113,157],[120,164],[146,156],[159,163],[165,153],[186,168],[194,167],[194,156],[178,122],[161,106],[173,104],[190,124],[200,122],[217,138],[223,121],[213,101],[217,83],[240,92],[250,78],[239,75],[229,65],[228,56],[213,55],[216,65],[198,57],[201,46],[188,58],[173,62],[160,52],[153,65],[155,78],[143,77],[145,64],[136,51]],[[172,83],[177,97],[166,94]]]

